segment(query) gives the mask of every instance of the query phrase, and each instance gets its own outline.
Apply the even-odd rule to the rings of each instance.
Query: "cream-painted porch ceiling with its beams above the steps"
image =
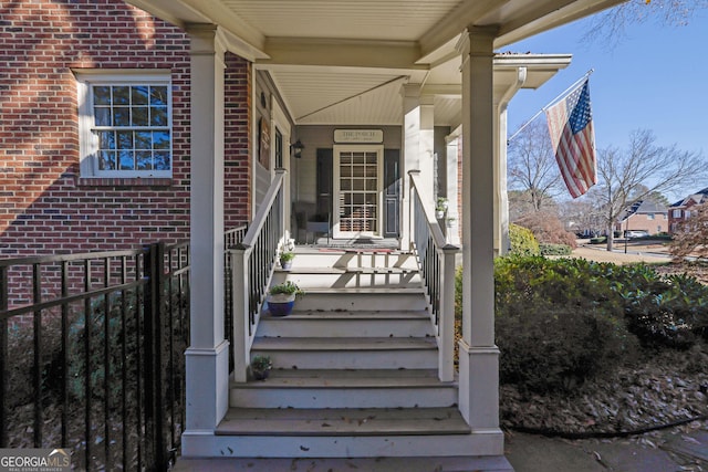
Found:
[[[466,28],[497,25],[502,48],[624,0],[127,1],[180,28],[218,24],[230,51],[269,71],[295,124],[386,125],[402,120],[403,83],[459,88]],[[436,124],[459,123],[452,95],[436,94]]]

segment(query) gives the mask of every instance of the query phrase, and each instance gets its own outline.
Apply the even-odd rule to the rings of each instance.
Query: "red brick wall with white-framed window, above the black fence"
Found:
[[[6,2],[0,18],[0,256],[188,239],[187,34],[122,1]],[[251,66],[226,61],[233,227],[251,213]]]

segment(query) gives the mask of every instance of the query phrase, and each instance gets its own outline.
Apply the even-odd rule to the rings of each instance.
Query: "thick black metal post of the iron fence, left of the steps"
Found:
[[[165,244],[162,242],[146,247],[145,252],[145,297],[144,297],[144,361],[145,368],[145,434],[148,444],[146,455],[149,469],[160,470],[165,465],[165,439],[163,437],[163,379],[162,379],[162,326],[164,300]]]

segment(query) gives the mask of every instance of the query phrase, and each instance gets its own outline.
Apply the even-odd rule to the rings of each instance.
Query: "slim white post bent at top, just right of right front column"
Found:
[[[527,67],[517,67],[517,80],[501,96],[494,96],[494,255],[509,252],[509,196],[507,192],[507,116],[511,98],[527,81]]]

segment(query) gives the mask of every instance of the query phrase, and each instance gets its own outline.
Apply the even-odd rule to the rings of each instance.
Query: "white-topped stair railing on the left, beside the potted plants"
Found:
[[[246,381],[259,313],[275,269],[278,244],[285,232],[285,170],[277,169],[243,241],[231,252],[233,294],[233,378]]]

